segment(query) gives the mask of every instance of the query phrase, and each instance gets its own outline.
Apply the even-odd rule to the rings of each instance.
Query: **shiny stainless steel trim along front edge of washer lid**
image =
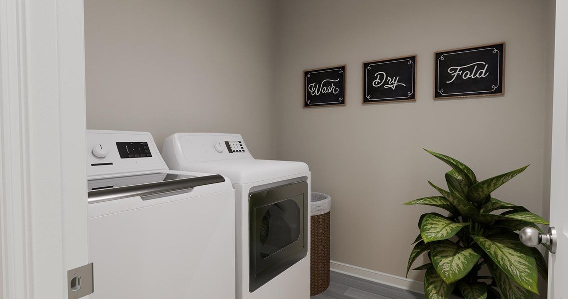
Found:
[[[203,177],[182,178],[179,180],[145,183],[141,185],[91,190],[87,193],[89,204],[108,202],[110,200],[129,197],[149,197],[152,195],[172,193],[173,191],[190,190],[194,187],[224,182],[219,174]]]

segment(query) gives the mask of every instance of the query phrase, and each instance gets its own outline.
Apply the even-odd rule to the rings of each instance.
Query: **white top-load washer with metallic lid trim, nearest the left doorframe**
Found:
[[[87,130],[91,299],[235,298],[235,190],[149,133]],[[71,297],[69,297],[71,298]]]

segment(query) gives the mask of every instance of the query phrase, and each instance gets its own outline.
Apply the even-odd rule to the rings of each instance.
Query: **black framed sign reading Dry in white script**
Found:
[[[363,104],[416,97],[416,55],[363,63]]]

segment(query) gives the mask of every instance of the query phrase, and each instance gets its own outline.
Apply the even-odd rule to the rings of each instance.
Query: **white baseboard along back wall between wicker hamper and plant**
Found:
[[[331,268],[331,271],[375,281],[377,283],[390,285],[391,287],[406,289],[408,291],[424,294],[424,283],[418,280],[405,279],[404,277],[357,267],[346,263],[336,262],[335,260],[329,261],[329,267]]]

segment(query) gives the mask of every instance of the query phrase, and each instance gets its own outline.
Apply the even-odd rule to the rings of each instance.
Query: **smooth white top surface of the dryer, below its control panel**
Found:
[[[232,183],[245,184],[273,178],[293,176],[310,171],[303,162],[235,159],[189,163],[182,166],[186,171],[212,172],[226,176]]]

